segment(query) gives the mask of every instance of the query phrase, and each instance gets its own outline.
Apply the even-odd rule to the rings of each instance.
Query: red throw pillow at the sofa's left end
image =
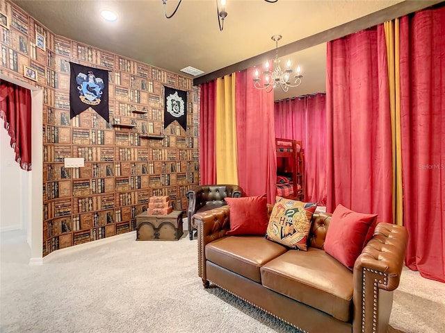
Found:
[[[224,200],[230,207],[230,230],[225,234],[264,236],[269,221],[266,194]]]

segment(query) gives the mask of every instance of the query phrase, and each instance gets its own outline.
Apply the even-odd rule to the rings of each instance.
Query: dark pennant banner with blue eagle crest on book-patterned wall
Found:
[[[109,122],[108,71],[74,62],[70,62],[70,65],[70,118],[92,108]]]

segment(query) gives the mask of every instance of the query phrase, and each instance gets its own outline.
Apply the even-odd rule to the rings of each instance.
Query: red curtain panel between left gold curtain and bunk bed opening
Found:
[[[253,87],[254,69],[236,73],[235,109],[239,185],[248,196],[275,203],[277,157],[273,94]]]

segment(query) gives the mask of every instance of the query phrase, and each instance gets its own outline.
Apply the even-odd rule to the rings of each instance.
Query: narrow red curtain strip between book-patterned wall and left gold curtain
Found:
[[[201,184],[216,184],[215,82],[201,85],[200,177]]]

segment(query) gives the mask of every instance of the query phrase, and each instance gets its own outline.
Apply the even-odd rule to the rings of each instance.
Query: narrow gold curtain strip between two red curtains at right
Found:
[[[399,20],[385,22],[393,159],[393,220],[403,225]]]

